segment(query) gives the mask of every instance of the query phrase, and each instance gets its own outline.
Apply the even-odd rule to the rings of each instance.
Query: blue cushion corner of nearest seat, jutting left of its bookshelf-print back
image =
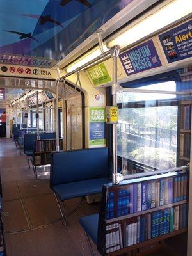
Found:
[[[92,239],[93,243],[97,244],[99,214],[84,216],[79,222],[86,234]]]

